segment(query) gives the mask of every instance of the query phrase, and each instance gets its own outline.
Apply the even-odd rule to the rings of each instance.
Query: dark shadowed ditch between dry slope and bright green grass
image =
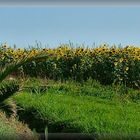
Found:
[[[43,120],[38,116],[37,110],[32,107],[28,108],[26,110],[19,110],[17,112],[19,116],[19,120],[26,123],[28,127],[31,130],[35,130],[39,134],[39,139],[44,140],[45,139],[45,128],[48,128],[48,137],[50,139],[55,137],[55,134],[61,134],[60,137],[63,136],[63,134],[77,134],[81,135],[82,138],[87,138],[88,140],[94,140],[95,137],[91,137],[89,134],[82,134],[82,128],[80,127],[72,127],[71,122],[73,120],[65,120],[65,121],[49,121],[49,120]],[[52,135],[54,134],[54,135]],[[76,135],[73,135],[72,138],[77,137]],[[58,137],[57,137],[58,138]],[[55,138],[54,138],[55,139]]]

